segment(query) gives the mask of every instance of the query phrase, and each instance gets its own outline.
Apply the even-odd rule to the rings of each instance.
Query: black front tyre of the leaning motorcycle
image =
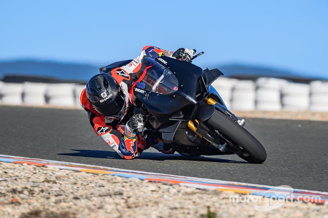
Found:
[[[207,121],[214,132],[228,142],[228,149],[250,163],[263,163],[266,151],[246,129],[225,114],[215,110]]]

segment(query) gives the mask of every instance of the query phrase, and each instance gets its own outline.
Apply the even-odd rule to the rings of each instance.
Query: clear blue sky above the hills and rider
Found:
[[[1,1],[0,61],[106,65],[143,46],[195,48],[201,67],[241,63],[327,77],[328,1]]]

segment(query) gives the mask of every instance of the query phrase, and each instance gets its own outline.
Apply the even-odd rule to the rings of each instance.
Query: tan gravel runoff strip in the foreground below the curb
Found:
[[[260,212],[254,203],[229,203],[231,195],[238,194],[0,162],[0,217],[328,218],[327,205],[287,202]]]

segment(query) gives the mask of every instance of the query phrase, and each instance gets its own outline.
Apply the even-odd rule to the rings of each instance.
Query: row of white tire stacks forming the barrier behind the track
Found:
[[[276,78],[236,80],[219,78],[212,83],[231,110],[311,110],[328,112],[328,82],[310,84],[286,82]],[[77,106],[85,85],[74,83],[5,83],[0,81],[0,103]]]

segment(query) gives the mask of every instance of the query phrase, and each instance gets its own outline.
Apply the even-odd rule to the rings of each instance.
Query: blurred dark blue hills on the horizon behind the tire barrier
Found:
[[[300,76],[300,73],[283,69],[251,66],[246,64],[211,64],[213,68],[221,70],[225,76],[241,79],[251,79],[259,76],[280,77],[287,79],[324,79],[314,76]],[[63,80],[87,81],[92,75],[99,72],[101,66],[81,63],[61,63],[54,61],[15,60],[0,62],[0,79],[4,75],[26,75],[53,77]],[[304,74],[302,74],[304,75]]]

